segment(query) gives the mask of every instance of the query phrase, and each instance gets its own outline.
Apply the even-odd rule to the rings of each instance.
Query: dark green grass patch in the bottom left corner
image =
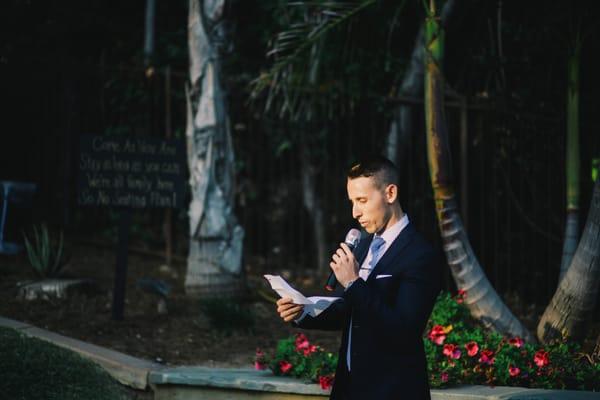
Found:
[[[125,391],[70,350],[0,328],[0,397],[13,400],[119,400]]]

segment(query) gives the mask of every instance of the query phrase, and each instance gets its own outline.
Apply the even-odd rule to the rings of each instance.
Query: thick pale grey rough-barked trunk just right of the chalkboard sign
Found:
[[[192,200],[185,288],[202,297],[236,296],[243,289],[244,230],[233,214],[234,154],[216,47],[223,11],[224,0],[190,0],[186,137]]]

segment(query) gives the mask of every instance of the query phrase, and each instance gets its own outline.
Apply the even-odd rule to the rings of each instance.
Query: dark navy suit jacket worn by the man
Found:
[[[359,243],[359,265],[372,239]],[[366,282],[357,279],[318,317],[307,315],[298,323],[343,332],[331,399],[430,399],[422,335],[440,291],[440,266],[431,245],[409,223]],[[350,317],[351,372],[346,362]]]

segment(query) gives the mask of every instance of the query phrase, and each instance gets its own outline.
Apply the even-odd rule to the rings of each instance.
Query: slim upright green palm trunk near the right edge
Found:
[[[581,45],[576,41],[567,68],[567,222],[558,283],[565,276],[579,239],[579,60]]]

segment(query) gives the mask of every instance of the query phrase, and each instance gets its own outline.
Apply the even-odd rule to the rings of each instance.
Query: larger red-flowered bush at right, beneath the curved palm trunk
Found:
[[[425,334],[432,387],[486,384],[600,390],[600,364],[566,341],[541,346],[482,328],[456,297],[440,295]]]

